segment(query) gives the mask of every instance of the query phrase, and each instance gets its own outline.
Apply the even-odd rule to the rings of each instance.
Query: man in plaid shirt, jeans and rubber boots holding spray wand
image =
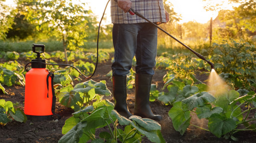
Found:
[[[131,7],[152,22],[166,23],[169,21],[169,14],[164,9],[163,0],[111,0],[115,49],[112,64],[114,109],[126,118],[132,116],[126,103],[126,75],[130,72],[132,59],[135,56],[133,114],[160,121],[162,117],[154,115],[149,104],[151,81],[155,73],[153,68],[156,65],[157,28],[137,15],[131,15],[128,12]]]

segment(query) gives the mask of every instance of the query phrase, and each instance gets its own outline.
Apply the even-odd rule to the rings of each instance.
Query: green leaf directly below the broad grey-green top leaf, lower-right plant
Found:
[[[220,114],[222,112],[223,112],[223,109],[221,107],[212,108],[211,104],[206,104],[203,107],[198,107],[196,110],[196,113],[199,119],[209,118],[214,113]]]

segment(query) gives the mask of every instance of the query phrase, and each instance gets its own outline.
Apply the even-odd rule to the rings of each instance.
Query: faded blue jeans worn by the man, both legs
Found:
[[[150,23],[114,24],[112,75],[125,76],[136,57],[136,73],[153,75],[157,55],[157,28]]]

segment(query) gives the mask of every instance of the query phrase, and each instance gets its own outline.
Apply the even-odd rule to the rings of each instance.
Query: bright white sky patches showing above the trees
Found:
[[[76,0],[74,0],[76,1]],[[82,0],[81,0],[82,1]],[[104,8],[108,0],[84,0],[100,20]],[[215,18],[218,11],[206,11],[204,9],[205,1],[203,0],[169,0],[173,6],[174,11],[181,14],[182,20],[179,23],[188,21],[197,21],[200,23],[207,23],[211,17]],[[212,0],[219,4],[223,4],[222,9],[232,9],[232,5],[228,4],[228,0]],[[13,3],[13,0],[6,0],[7,3]],[[136,10],[136,9],[135,9]],[[106,10],[107,21],[104,24],[110,24],[110,3]]]

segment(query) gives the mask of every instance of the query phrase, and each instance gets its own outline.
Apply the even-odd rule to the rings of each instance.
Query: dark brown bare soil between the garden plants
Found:
[[[107,87],[112,92],[111,79],[105,76],[110,70],[110,60],[106,63],[99,64],[95,75],[92,77],[92,80],[98,82],[100,80],[106,80]],[[159,88],[158,90],[161,90],[164,85],[164,82],[162,81],[164,75],[165,71],[156,71],[153,77],[153,83],[157,85]],[[201,81],[207,79],[207,76],[204,75],[197,77]],[[25,88],[22,86],[4,86],[4,88],[9,93],[9,95],[4,95],[2,92],[0,92],[0,99],[8,100],[13,103],[17,102],[19,103],[17,107],[23,110]],[[112,96],[105,97],[105,99],[113,102]],[[134,89],[128,90],[128,107],[131,113],[133,113]],[[164,106],[161,102],[155,101],[151,102],[151,109],[153,113],[163,116],[163,120],[160,121],[159,124],[162,126],[161,132],[166,143],[256,143],[255,132],[240,132],[235,135],[239,141],[234,142],[232,140],[217,138],[210,132],[197,129],[192,126],[187,129],[183,136],[181,136],[179,132],[174,130],[171,118],[168,116],[168,112],[171,109],[171,106]],[[58,140],[63,136],[61,134],[61,130],[65,120],[72,116],[73,110],[66,108],[57,102],[55,112],[61,116],[60,120],[42,122],[27,121],[26,123],[13,121],[7,123],[6,126],[0,126],[0,143],[57,143]],[[198,118],[193,117],[191,122],[197,126],[207,128],[207,121],[205,120],[199,120]],[[143,143],[151,142],[147,139],[143,139]]]

